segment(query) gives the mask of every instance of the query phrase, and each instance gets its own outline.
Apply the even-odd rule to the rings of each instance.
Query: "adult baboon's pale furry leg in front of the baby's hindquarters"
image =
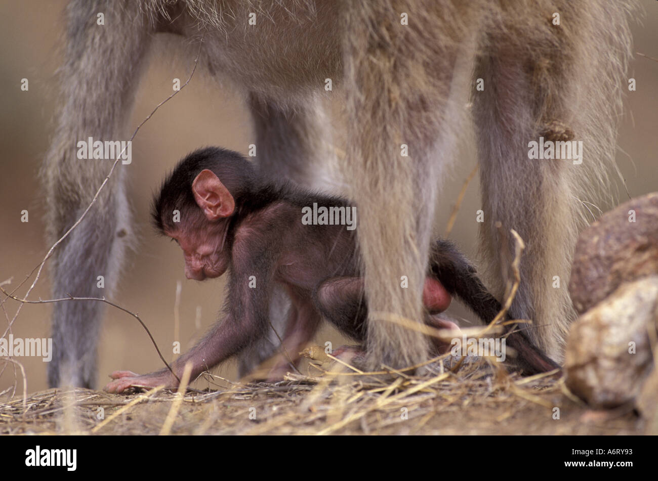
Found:
[[[459,118],[451,116],[459,110],[453,84],[460,78],[468,83],[465,69],[457,67],[465,40],[457,26],[468,7],[460,12],[438,2],[394,3],[355,3],[345,8],[344,19],[344,170],[358,209],[373,369],[413,365],[428,355],[426,338],[414,328],[423,320],[435,202]],[[416,17],[404,25],[400,14],[407,7]]]

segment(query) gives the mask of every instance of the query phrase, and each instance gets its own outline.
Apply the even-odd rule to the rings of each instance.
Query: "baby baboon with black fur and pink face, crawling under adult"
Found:
[[[172,365],[176,376],[180,378],[191,362],[195,378],[258,343],[269,328],[275,286],[288,292],[292,302],[282,331],[287,357],[279,356],[270,380],[279,380],[290,370],[289,363],[297,363],[297,353],[313,338],[321,317],[363,344],[369,336],[368,307],[355,242],[355,212],[344,198],[263,178],[238,152],[209,147],[181,160],[155,196],[155,227],[182,248],[188,279],[204,281],[229,274],[223,319],[176,359]],[[485,323],[493,321],[501,308],[463,254],[450,242],[436,240],[424,280],[424,322],[458,329],[455,323],[431,315],[447,308],[451,295]],[[510,325],[507,332],[507,344],[515,350],[522,371],[536,374],[557,367],[523,331]],[[436,350],[447,348],[447,342],[434,341]],[[114,380],[106,386],[110,392],[130,386],[178,386],[168,369],[141,376],[115,371],[111,376]]]

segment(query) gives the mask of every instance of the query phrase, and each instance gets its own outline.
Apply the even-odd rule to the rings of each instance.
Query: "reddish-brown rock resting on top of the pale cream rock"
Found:
[[[658,193],[651,193],[606,212],[580,234],[569,294],[582,314],[623,282],[657,273]]]

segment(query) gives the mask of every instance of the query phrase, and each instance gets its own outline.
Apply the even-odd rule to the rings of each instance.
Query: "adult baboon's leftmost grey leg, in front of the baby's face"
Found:
[[[99,12],[105,15],[104,26],[96,23]],[[136,2],[72,1],[66,16],[63,105],[44,164],[50,244],[80,217],[113,163],[76,158],[76,143],[89,137],[127,140],[125,124],[150,35]],[[123,182],[126,168],[130,166],[117,166],[86,218],[55,250],[51,260],[55,298],[111,296],[133,235]],[[105,288],[97,287],[99,276]],[[99,302],[54,305],[50,386],[93,387],[102,314]]]

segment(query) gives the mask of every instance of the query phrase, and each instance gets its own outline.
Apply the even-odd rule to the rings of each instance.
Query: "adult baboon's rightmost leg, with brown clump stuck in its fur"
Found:
[[[532,319],[530,338],[560,361],[574,318],[567,283],[580,201],[596,202],[592,186],[607,185],[605,165],[615,158],[630,46],[627,5],[547,1],[540,12],[534,3],[514,5],[483,29],[476,65],[475,77],[484,80],[484,90],[472,93],[486,219],[481,234],[494,279],[509,273],[509,230],[524,240],[510,313]],[[528,158],[528,143],[540,137],[575,141],[582,157],[574,151],[565,160]],[[495,294],[500,298],[503,286]]]

